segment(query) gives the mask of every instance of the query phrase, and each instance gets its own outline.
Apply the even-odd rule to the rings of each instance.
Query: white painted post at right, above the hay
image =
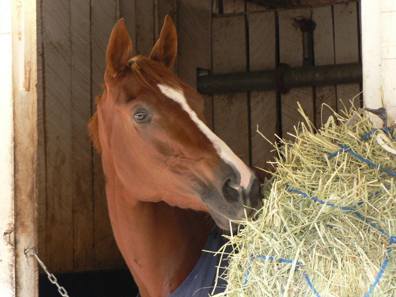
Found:
[[[362,0],[363,99],[396,120],[396,0]],[[381,92],[382,90],[382,92]],[[381,98],[382,93],[382,98]],[[374,115],[372,120],[381,125]]]

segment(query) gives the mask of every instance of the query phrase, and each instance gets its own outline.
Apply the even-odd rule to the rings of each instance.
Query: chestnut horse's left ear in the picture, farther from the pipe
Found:
[[[120,19],[111,31],[106,51],[107,70],[111,75],[122,72],[132,54],[132,41],[125,27],[124,19]]]

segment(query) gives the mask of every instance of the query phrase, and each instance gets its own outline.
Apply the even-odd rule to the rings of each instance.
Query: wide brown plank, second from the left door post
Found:
[[[73,180],[68,0],[43,1],[48,268],[73,269]]]

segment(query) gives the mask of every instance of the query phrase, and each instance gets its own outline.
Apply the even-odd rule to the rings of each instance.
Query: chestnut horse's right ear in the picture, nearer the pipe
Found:
[[[162,63],[166,68],[172,68],[177,54],[176,28],[169,15],[165,16],[159,38],[150,53],[150,59]]]

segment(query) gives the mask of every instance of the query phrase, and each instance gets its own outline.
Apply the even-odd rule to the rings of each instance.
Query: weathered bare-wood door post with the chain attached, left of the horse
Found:
[[[25,254],[38,243],[36,2],[12,3],[15,296],[37,297],[37,262]]]

